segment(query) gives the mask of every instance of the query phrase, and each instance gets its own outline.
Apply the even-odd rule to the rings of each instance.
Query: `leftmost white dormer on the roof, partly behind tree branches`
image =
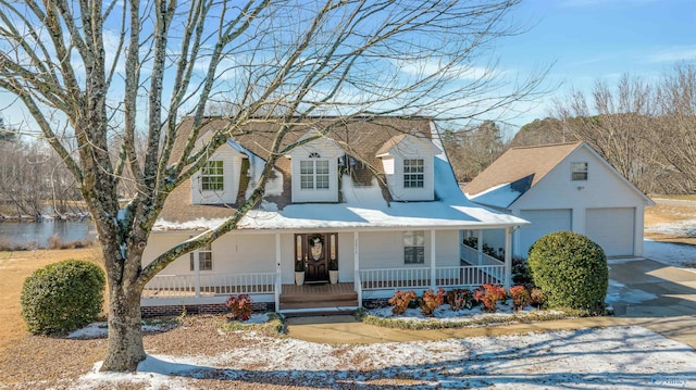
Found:
[[[203,148],[213,131],[209,130],[198,138],[195,150]],[[233,204],[237,201],[239,179],[244,160],[247,156],[224,143],[210,153],[206,164],[191,176],[192,204]],[[248,165],[248,164],[247,164]]]

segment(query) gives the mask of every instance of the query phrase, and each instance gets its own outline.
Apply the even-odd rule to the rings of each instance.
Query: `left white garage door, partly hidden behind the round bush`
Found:
[[[526,257],[530,247],[543,236],[571,229],[571,210],[522,210],[520,216],[532,225],[520,228],[520,249],[515,254]]]

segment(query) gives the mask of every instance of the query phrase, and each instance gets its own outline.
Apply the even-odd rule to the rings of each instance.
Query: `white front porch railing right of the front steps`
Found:
[[[500,262],[499,262],[500,263]],[[431,268],[360,269],[361,290],[398,290],[425,288],[475,288],[483,284],[502,285],[505,264],[464,265],[435,268],[435,286]]]

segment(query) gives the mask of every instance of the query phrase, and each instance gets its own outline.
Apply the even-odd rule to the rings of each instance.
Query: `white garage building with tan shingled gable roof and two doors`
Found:
[[[463,189],[532,223],[512,234],[517,256],[557,230],[583,234],[609,256],[642,256],[644,207],[655,204],[582,141],[511,148]]]

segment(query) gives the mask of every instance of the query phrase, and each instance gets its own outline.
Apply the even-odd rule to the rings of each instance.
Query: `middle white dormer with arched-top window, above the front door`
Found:
[[[309,130],[300,140],[315,137]],[[293,203],[338,202],[338,158],[344,151],[333,140],[321,137],[295,148],[291,161]]]

